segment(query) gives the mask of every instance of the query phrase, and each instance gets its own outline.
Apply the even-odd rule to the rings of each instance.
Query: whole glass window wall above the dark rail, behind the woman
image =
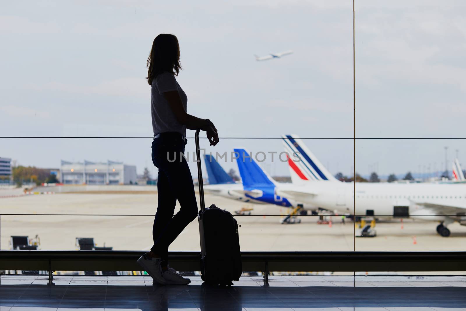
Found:
[[[348,1],[3,5],[0,156],[12,177],[0,187],[0,248],[37,235],[40,249],[77,249],[81,237],[150,249],[145,62],[154,37],[172,33],[188,112],[221,136],[201,147],[238,182],[216,184],[203,162],[206,204],[235,214],[242,250],[463,250],[466,8],[355,9],[353,64]],[[235,148],[252,152],[265,184],[244,183],[241,170],[259,169],[239,167]],[[195,221],[171,249],[199,249]]]

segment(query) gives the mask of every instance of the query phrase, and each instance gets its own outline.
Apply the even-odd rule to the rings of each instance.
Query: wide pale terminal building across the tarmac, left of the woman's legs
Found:
[[[63,184],[129,185],[137,181],[136,166],[123,162],[69,162],[62,160],[60,182]]]

